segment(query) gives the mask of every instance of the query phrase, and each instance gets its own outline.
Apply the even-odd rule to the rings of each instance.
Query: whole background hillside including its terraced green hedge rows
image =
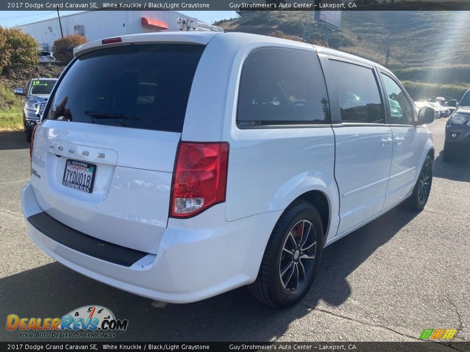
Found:
[[[308,11],[257,11],[217,22],[227,31],[268,34],[281,30],[323,39]],[[470,87],[470,11],[343,11],[341,31],[329,45],[379,64],[385,63],[406,82],[415,99],[450,95],[460,98]],[[431,90],[429,90],[430,88]],[[425,93],[424,93],[425,92]]]

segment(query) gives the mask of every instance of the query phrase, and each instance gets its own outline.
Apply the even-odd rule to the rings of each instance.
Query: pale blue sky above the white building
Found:
[[[82,11],[60,11],[61,16]],[[206,23],[235,18],[235,11],[179,11]],[[37,22],[57,17],[57,11],[0,11],[0,25],[14,27],[16,25]]]

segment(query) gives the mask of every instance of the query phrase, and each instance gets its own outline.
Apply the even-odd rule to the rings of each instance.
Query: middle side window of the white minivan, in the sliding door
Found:
[[[382,99],[374,71],[342,61],[330,60],[338,92],[341,120],[356,123],[385,123]]]

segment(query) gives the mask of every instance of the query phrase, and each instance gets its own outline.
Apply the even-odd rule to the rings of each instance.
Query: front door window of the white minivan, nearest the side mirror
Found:
[[[414,120],[413,108],[400,86],[389,76],[382,73],[385,91],[388,97],[390,123],[411,125]]]

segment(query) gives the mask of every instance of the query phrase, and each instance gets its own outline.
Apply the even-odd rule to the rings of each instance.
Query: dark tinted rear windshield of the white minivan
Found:
[[[182,132],[203,45],[144,44],[78,58],[55,92],[48,119]]]

